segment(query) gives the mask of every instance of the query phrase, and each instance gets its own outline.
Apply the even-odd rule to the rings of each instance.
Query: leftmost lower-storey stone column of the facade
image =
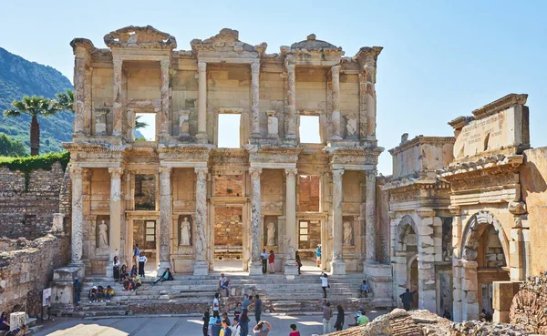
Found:
[[[72,182],[72,229],[70,233],[72,256],[71,264],[81,266],[83,249],[83,205],[82,205],[82,168],[70,168],[70,181]]]

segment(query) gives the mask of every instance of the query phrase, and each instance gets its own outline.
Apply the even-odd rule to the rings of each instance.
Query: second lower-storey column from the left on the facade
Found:
[[[108,228],[108,256],[107,277],[114,276],[114,256],[119,257],[121,240],[121,172],[122,168],[108,168],[110,173],[110,226]]]

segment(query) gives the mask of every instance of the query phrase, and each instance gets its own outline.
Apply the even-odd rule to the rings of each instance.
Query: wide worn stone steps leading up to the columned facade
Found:
[[[323,300],[321,280],[317,275],[301,275],[295,280],[286,280],[284,275],[266,274],[263,276],[244,276],[228,274],[231,279],[232,295],[223,297],[221,311],[233,311],[237,302],[243,300],[243,294],[259,294],[263,300],[263,311],[274,313],[320,312]],[[330,289],[327,300],[335,309],[342,304],[345,310],[358,306],[372,307],[372,299],[358,298],[358,288],[363,280],[362,274],[347,274],[341,277],[329,277]],[[88,277],[82,283],[80,308],[72,315],[76,316],[119,316],[145,313],[202,313],[210,309],[212,299],[218,290],[217,275],[190,276],[175,275],[175,280],[151,285],[150,278],[143,280],[139,290],[124,291],[122,284],[108,278]],[[110,285],[115,292],[110,302],[89,303],[88,290],[93,286]],[[251,308],[253,311],[253,306]]]

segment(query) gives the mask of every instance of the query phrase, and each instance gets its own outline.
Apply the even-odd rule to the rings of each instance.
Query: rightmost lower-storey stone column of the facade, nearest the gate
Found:
[[[376,170],[366,171],[366,262],[377,261]]]

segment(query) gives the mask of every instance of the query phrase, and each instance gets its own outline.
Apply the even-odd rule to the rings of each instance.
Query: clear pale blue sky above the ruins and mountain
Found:
[[[315,33],[342,46],[384,46],[377,69],[377,137],[387,149],[403,133],[450,136],[447,122],[511,92],[529,94],[532,147],[547,146],[545,1],[5,1],[0,46],[72,79],[68,43],[126,25],[153,25],[190,49],[223,27],[279,51]]]

